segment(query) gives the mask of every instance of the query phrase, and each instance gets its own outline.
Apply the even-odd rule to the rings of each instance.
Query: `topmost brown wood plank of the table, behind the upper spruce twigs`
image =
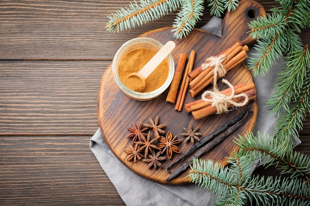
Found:
[[[266,10],[272,1],[257,0]],[[176,12],[160,20],[120,33],[105,30],[107,15],[129,0],[0,1],[0,59],[111,60],[125,41],[152,29],[171,26]],[[202,27],[211,18],[206,4]],[[310,31],[301,36],[310,40]]]

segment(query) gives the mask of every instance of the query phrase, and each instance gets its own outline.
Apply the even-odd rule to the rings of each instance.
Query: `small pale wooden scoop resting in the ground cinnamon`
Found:
[[[175,43],[173,41],[168,41],[138,73],[133,72],[126,76],[127,81],[138,82],[133,90],[143,92],[145,88],[145,79],[147,79],[156,67],[169,55],[174,47]]]

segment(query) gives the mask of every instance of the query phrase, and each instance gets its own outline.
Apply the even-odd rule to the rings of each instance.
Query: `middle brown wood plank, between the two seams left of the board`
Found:
[[[0,61],[0,135],[93,135],[109,61]]]

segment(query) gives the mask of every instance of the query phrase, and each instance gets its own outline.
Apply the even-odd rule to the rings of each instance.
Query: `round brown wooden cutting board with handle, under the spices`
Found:
[[[163,44],[167,41],[174,41],[176,43],[176,48],[171,54],[175,65],[177,65],[180,53],[186,53],[189,56],[191,50],[195,50],[196,57],[194,68],[196,68],[204,63],[207,57],[214,56],[219,51],[232,46],[239,40],[247,45],[254,43],[254,41],[248,37],[248,23],[262,15],[265,15],[265,11],[260,4],[252,0],[244,0],[240,1],[239,8],[236,11],[226,13],[223,20],[222,37],[217,37],[206,31],[195,29],[188,37],[183,38],[182,40],[176,40],[172,37],[173,33],[171,33],[170,27],[150,31],[143,34],[141,37],[153,38]],[[251,73],[243,63],[229,71],[226,74],[225,79],[233,85],[240,82],[245,82],[247,84],[253,82]],[[218,86],[220,89],[226,88],[220,83]],[[211,89],[211,86],[206,89]],[[169,173],[166,170],[167,166],[174,162],[180,154],[173,154],[171,160],[167,159],[162,161],[162,168],[159,169],[155,169],[154,167],[149,169],[148,163],[142,161],[136,163],[133,161],[127,162],[127,155],[124,150],[129,148],[131,139],[126,138],[129,134],[126,127],[133,127],[133,123],[136,125],[140,122],[149,123],[149,118],[155,120],[156,116],[158,116],[159,124],[166,124],[164,128],[166,132],[162,136],[165,136],[168,131],[171,131],[173,136],[182,139],[182,142],[177,146],[183,154],[192,146],[190,141],[185,142],[185,138],[180,135],[184,132],[183,127],[187,128],[190,124],[193,127],[199,127],[199,132],[202,133],[202,139],[218,126],[233,119],[243,108],[230,111],[226,114],[211,115],[201,120],[194,120],[192,115],[187,114],[184,109],[182,112],[177,112],[174,110],[174,104],[165,101],[167,92],[168,89],[162,95],[150,101],[133,100],[127,97],[114,82],[112,67],[110,64],[103,74],[99,89],[97,105],[99,125],[104,140],[111,151],[119,161],[133,172],[146,179],[162,184],[187,184],[189,183],[189,179],[185,178],[187,172],[184,172],[182,175],[171,181],[164,181],[169,176]],[[195,101],[198,98],[201,98],[201,95],[197,95],[197,97],[193,98],[189,92],[187,92],[185,104]],[[254,115],[251,116],[245,124],[202,158],[212,159],[222,165],[227,165],[226,157],[236,149],[236,146],[233,144],[234,136],[237,136],[238,134],[243,135],[247,131],[252,130],[255,126],[258,112],[258,106],[256,103],[253,104],[252,110],[254,111]],[[172,171],[175,168],[176,167],[172,168]]]

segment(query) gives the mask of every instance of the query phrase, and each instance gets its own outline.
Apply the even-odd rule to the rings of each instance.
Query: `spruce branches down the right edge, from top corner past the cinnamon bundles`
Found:
[[[277,1],[281,6],[271,9],[272,14],[258,17],[249,25],[250,36],[258,41],[258,52],[249,58],[249,68],[255,76],[266,75],[284,57],[284,69],[266,104],[278,116],[275,135],[290,139],[298,138],[298,130],[310,113],[310,55],[308,45],[303,46],[298,36],[302,29],[310,28],[310,1]]]

